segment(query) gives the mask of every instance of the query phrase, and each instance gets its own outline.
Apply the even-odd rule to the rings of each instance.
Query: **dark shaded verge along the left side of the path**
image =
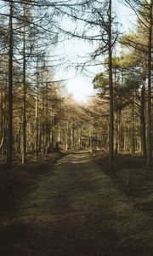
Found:
[[[14,214],[18,201],[37,187],[37,180],[50,172],[63,154],[54,153],[14,165],[12,170],[0,166],[0,217]]]

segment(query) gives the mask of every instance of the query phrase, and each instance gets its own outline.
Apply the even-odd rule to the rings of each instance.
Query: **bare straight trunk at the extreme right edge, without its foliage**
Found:
[[[147,167],[151,166],[151,49],[152,49],[152,4],[150,0],[150,27],[149,27],[149,47],[148,47],[148,126],[147,126]]]

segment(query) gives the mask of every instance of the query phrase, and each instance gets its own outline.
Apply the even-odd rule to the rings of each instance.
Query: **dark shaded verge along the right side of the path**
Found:
[[[153,216],[153,170],[145,167],[145,160],[139,154],[123,154],[116,157],[114,170],[108,168],[108,155],[99,152],[94,160],[102,171],[111,177],[133,206]]]

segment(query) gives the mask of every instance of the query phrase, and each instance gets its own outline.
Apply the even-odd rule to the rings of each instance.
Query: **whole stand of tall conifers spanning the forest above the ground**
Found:
[[[152,2],[125,0],[137,27],[122,36],[112,0],[0,1],[0,154],[9,167],[17,154],[26,163],[28,154],[37,159],[54,148],[85,147],[107,149],[111,167],[116,154],[141,152],[150,168]],[[66,31],[58,16],[82,30]],[[97,96],[87,106],[64,96],[62,81],[54,80],[60,33],[92,42],[82,67],[102,67],[93,79]]]

